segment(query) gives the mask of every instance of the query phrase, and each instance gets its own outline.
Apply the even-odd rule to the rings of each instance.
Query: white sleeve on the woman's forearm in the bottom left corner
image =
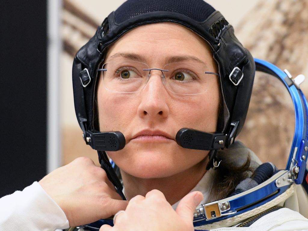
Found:
[[[0,198],[0,230],[54,231],[69,228],[65,213],[35,181]]]

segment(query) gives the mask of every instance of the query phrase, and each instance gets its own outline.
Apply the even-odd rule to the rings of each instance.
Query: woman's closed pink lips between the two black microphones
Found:
[[[160,130],[142,130],[133,136],[132,140],[136,141],[170,141],[174,140],[167,132]]]

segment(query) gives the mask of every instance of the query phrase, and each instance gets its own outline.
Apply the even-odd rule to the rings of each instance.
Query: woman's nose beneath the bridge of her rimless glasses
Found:
[[[148,83],[140,92],[138,115],[149,120],[161,120],[169,115],[169,95],[162,81],[162,71],[151,70]]]

